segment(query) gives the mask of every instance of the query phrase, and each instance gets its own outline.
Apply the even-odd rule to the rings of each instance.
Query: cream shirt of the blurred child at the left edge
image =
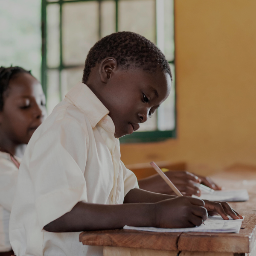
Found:
[[[16,157],[20,162],[20,158]],[[8,153],[0,151],[0,252],[12,250],[9,241],[9,218],[12,209],[18,168]]]

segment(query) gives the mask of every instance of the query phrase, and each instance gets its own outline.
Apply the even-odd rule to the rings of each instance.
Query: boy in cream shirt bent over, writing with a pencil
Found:
[[[114,33],[90,49],[83,83],[35,131],[20,165],[10,221],[16,256],[102,255],[79,243],[83,230],[194,227],[207,211],[240,218],[227,203],[139,189],[120,160],[118,138],[154,113],[171,79],[163,53],[138,34]]]

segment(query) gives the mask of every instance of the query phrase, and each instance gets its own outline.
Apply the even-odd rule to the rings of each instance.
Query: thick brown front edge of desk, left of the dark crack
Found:
[[[87,245],[177,250],[181,233],[152,233],[137,230],[99,230],[80,234],[79,241]]]

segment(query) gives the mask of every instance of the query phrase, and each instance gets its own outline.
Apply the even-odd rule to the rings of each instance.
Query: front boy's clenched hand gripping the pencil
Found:
[[[160,201],[155,207],[155,227],[195,227],[200,226],[208,217],[204,201],[188,196]]]

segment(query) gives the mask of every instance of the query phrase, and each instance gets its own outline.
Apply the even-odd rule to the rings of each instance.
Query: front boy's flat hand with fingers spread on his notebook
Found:
[[[207,209],[208,215],[221,215],[224,220],[228,220],[228,216],[230,215],[231,218],[234,220],[242,219],[243,217],[236,212],[227,202],[219,202],[219,201],[204,201],[204,208]]]

